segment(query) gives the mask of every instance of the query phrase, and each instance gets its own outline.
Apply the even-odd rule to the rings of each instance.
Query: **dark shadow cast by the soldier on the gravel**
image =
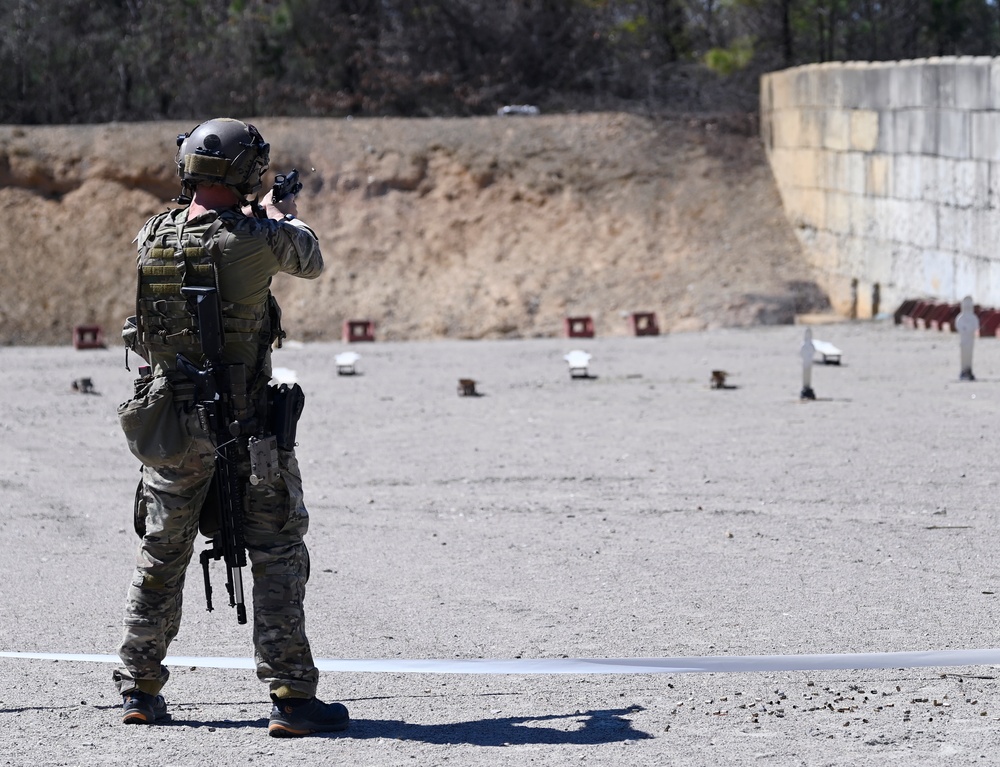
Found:
[[[649,733],[635,729],[632,722],[626,718],[627,715],[642,710],[641,706],[631,706],[573,714],[512,716],[444,724],[414,724],[394,719],[352,719],[350,728],[345,732],[323,733],[310,737],[355,740],[389,738],[436,745],[459,743],[473,746],[598,745],[652,738]],[[174,716],[170,724],[223,729],[255,725],[267,727],[267,720],[196,722]]]

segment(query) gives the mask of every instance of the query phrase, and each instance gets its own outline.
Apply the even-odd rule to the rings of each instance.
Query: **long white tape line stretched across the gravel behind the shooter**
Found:
[[[0,658],[121,663],[117,655],[0,652]],[[254,668],[250,658],[178,655],[167,666]],[[943,668],[1000,665],[1000,649],[930,652],[844,653],[836,655],[714,655],[693,658],[515,658],[372,660],[319,659],[320,671],[390,674],[734,674],[751,671],[834,671],[873,668]]]

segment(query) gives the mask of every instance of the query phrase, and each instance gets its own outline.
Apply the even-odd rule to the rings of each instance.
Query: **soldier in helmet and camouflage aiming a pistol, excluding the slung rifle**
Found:
[[[245,366],[246,415],[268,423],[271,344],[283,335],[270,294],[278,272],[315,279],[323,257],[315,233],[296,217],[295,197],[268,192],[262,208],[248,203],[267,171],[269,145],[252,125],[213,119],[177,138],[179,201],[139,232],[135,318],[123,336],[149,366],[136,397],[119,408],[129,447],[142,461],[136,492],[136,530],[142,537],[128,589],[125,632],[114,672],[124,701],[122,721],[154,724],[167,718],[160,690],[162,665],[180,626],[184,574],[215,471],[215,448],[191,380],[178,371],[183,354],[203,366],[194,305],[185,286],[210,286],[222,302],[223,361]],[[254,212],[265,211],[259,215]],[[128,411],[127,414],[123,414]],[[238,442],[238,441],[237,441]],[[276,737],[346,729],[347,708],[316,698],[319,672],[305,633],[303,598],[309,554],[303,542],[308,514],[292,446],[277,450],[276,476],[248,480],[249,454],[236,475],[245,488],[243,533],[253,573],[253,642],[257,676],[273,706],[268,733]],[[255,477],[256,479],[256,477]],[[245,618],[244,618],[245,620]]]

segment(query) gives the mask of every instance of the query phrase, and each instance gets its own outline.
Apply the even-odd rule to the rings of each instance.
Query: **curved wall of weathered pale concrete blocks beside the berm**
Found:
[[[834,308],[1000,306],[1000,59],[812,64],[761,79],[785,212]],[[877,285],[877,290],[876,290]]]

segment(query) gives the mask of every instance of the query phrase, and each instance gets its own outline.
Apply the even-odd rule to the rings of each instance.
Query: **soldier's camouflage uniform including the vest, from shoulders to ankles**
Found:
[[[167,681],[162,661],[180,627],[184,576],[215,473],[211,435],[190,386],[175,370],[178,352],[204,363],[180,285],[217,281],[226,332],[224,360],[247,365],[252,390],[259,393],[271,375],[271,278],[285,272],[313,279],[323,269],[323,258],[315,234],[297,220],[261,220],[235,209],[205,213],[190,222],[186,208],[160,214],[143,227],[138,243],[138,334],[126,342],[150,364],[154,377],[171,383],[178,421],[173,426],[190,437],[185,449],[168,461],[144,461],[137,492],[137,514],[144,517],[145,531],[128,589],[119,648],[124,667],[114,679],[120,693],[138,689],[155,694]],[[294,452],[280,450],[278,458],[277,479],[245,483],[257,675],[272,692],[312,697],[319,674],[303,613],[309,575],[303,536],[309,518]],[[249,460],[241,463],[238,475],[248,477]]]

